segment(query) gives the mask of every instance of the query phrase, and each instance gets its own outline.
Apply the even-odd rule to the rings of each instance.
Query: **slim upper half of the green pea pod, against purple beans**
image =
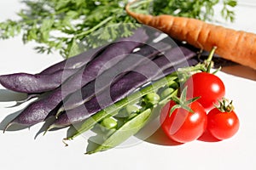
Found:
[[[124,108],[126,105],[131,105],[132,103],[135,103],[137,99],[141,99],[144,95],[150,94],[153,92],[156,92],[159,88],[162,88],[168,84],[168,82],[172,82],[173,80],[177,79],[176,74],[171,74],[169,76],[166,76],[164,78],[161,78],[159,81],[154,82],[151,85],[148,85],[147,87],[130,94],[125,99],[121,99],[118,102],[116,102],[114,105],[108,106],[105,110],[97,112],[95,115],[90,116],[88,119],[86,119],[81,125],[78,127],[72,127],[74,131],[71,134],[68,134],[66,140],[73,139],[77,136],[79,136],[81,133],[84,133],[90,128],[92,128],[97,122],[102,121],[103,118],[107,116],[114,116],[118,113],[118,111],[122,108]]]

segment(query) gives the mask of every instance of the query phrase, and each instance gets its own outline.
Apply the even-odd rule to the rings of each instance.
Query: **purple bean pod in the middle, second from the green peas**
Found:
[[[63,106],[60,108],[59,112],[71,110],[79,105],[83,105],[93,96],[99,94],[105,88],[108,88],[111,82],[118,81],[127,71],[132,71],[137,65],[146,65],[148,60],[152,59],[157,54],[163,53],[168,48],[172,48],[172,46],[165,42],[143,45],[139,51],[126,56],[118,65],[114,65],[108,71],[103,72],[95,81],[86,84],[81,90],[71,94],[68,99],[63,101]]]

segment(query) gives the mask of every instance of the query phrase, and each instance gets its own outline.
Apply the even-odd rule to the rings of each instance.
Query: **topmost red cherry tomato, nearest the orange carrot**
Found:
[[[211,73],[195,73],[184,83],[188,87],[188,98],[201,97],[197,101],[206,110],[211,110],[218,100],[222,99],[225,94],[224,83],[221,79]]]

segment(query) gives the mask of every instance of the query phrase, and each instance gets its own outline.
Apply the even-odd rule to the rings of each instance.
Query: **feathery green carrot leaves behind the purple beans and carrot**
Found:
[[[79,53],[79,44],[94,48],[116,37],[131,36],[136,23],[125,13],[128,0],[26,0],[20,9],[20,20],[0,23],[0,39],[22,34],[23,42],[38,42],[38,53],[59,51],[64,57]],[[137,12],[174,14],[200,20],[211,20],[218,0],[141,0]],[[221,11],[225,20],[234,20],[236,0],[224,0]],[[125,25],[122,25],[127,23]],[[120,28],[121,26],[121,28]],[[119,29],[116,29],[116,28]],[[97,41],[96,41],[97,40]],[[84,49],[82,47],[81,49]]]

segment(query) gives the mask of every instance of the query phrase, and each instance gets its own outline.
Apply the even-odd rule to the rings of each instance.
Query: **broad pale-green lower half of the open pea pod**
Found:
[[[125,122],[122,127],[119,127],[119,129],[111,134],[108,139],[103,141],[102,144],[98,145],[94,150],[87,151],[86,154],[93,154],[98,151],[108,150],[123,143],[126,139],[129,139],[132,135],[136,134],[146,124],[146,122],[148,122],[150,115],[151,109],[138,114],[130,121]]]

